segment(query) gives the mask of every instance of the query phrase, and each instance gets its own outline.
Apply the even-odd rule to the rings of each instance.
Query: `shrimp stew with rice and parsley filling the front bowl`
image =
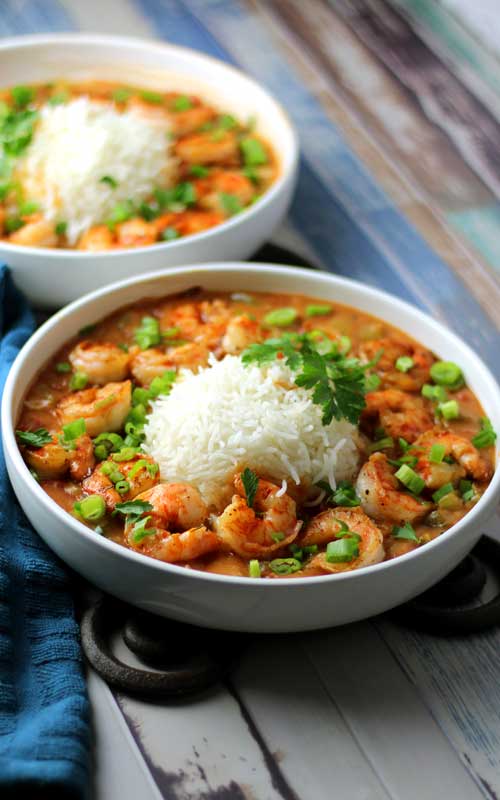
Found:
[[[242,377],[215,428],[227,367]],[[275,422],[245,416],[246,376]],[[96,536],[252,579],[425,546],[473,508],[495,464],[460,364],[361,311],[288,294],[193,288],[90,324],[42,369],[17,428],[34,480]]]

